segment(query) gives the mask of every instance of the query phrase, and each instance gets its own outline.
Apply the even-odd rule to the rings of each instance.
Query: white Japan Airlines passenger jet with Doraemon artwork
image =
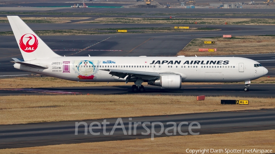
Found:
[[[149,85],[180,89],[182,82],[244,82],[268,70],[240,57],[65,57],[53,52],[18,16],[7,16],[24,58],[12,58],[13,67],[27,72],[80,82],[134,82],[132,90]]]

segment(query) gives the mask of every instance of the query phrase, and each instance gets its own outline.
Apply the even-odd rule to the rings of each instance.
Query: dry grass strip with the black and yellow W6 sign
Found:
[[[221,105],[221,100],[249,100],[249,105]],[[0,124],[258,110],[275,108],[274,102],[275,98],[219,96],[197,101],[196,96],[140,94],[0,96]]]

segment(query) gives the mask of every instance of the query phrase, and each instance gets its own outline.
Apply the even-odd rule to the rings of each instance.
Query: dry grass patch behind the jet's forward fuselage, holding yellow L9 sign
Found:
[[[204,41],[215,41],[215,44],[204,44]],[[185,56],[213,56],[233,54],[274,53],[274,36],[233,36],[232,38],[213,37],[193,39],[178,52]],[[215,52],[199,52],[199,48],[216,48]]]

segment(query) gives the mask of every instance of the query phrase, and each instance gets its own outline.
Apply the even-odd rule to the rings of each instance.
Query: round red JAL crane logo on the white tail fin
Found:
[[[38,40],[33,34],[25,34],[19,41],[20,48],[25,52],[33,52],[38,47]]]

